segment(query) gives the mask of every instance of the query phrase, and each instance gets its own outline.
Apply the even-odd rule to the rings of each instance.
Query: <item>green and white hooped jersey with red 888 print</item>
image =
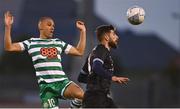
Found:
[[[19,42],[32,58],[38,83],[56,82],[68,79],[61,64],[61,53],[68,54],[71,45],[60,39],[31,38]]]

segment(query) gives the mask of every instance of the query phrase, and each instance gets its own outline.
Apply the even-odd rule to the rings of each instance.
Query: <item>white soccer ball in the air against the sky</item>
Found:
[[[142,7],[133,6],[127,10],[127,19],[129,23],[133,25],[139,25],[143,23],[145,18],[145,11]]]

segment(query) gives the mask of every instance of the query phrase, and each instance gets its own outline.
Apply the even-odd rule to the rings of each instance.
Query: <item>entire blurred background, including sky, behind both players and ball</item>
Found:
[[[142,25],[127,22],[126,10],[132,5],[145,9]],[[76,83],[85,57],[97,44],[96,26],[116,26],[121,43],[112,53],[115,74],[131,81],[127,86],[112,84],[115,102],[122,108],[180,107],[179,0],[0,0],[0,107],[32,108],[41,105],[31,58],[26,52],[3,50],[7,10],[15,17],[13,41],[38,37],[38,19],[50,16],[56,23],[55,36],[75,45],[79,39],[75,20],[85,21],[86,54],[83,58],[63,55],[64,70]],[[69,107],[69,101],[60,100],[60,107]]]

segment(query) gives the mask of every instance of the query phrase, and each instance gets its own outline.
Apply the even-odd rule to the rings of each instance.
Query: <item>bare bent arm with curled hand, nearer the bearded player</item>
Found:
[[[68,54],[74,55],[74,56],[82,56],[84,54],[84,50],[86,47],[86,27],[84,22],[77,21],[76,27],[80,31],[80,39],[76,47],[71,47]]]

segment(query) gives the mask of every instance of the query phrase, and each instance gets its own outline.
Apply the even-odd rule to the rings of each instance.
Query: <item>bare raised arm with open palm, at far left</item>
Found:
[[[11,40],[11,28],[13,24],[14,17],[9,11],[4,14],[5,23],[5,34],[4,34],[4,49],[6,51],[22,51],[18,43],[12,43]]]

